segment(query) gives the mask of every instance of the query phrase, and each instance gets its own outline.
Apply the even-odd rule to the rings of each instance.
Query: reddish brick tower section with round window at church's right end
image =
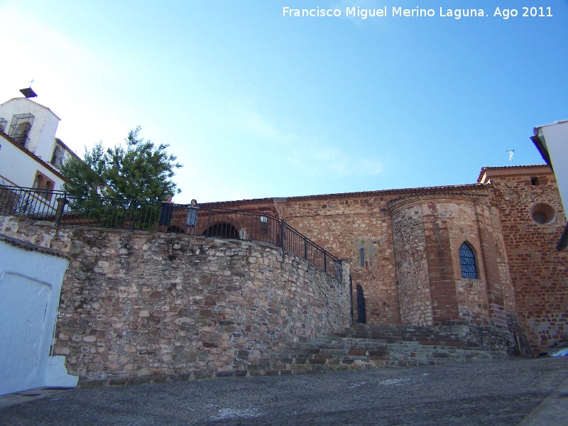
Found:
[[[566,225],[555,177],[547,166],[487,168],[480,182],[493,183],[491,203],[501,222],[510,302],[537,352],[568,338],[568,253],[555,250]],[[540,224],[532,209],[547,204],[554,219]],[[508,296],[510,297],[510,296]]]

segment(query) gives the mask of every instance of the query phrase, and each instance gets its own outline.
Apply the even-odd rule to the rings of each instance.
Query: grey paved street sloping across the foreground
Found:
[[[38,400],[0,410],[0,425],[462,426],[519,422],[523,426],[568,424],[568,359],[80,388],[51,391]]]

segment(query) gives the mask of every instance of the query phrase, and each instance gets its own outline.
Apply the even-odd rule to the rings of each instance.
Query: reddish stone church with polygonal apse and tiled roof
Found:
[[[508,328],[533,351],[568,338],[567,222],[547,165],[471,185],[207,205],[270,212],[351,271],[354,322]]]

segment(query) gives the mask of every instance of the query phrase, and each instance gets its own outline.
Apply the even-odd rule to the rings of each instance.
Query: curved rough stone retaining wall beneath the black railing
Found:
[[[13,217],[0,229],[69,254],[54,353],[82,379],[246,373],[350,323],[347,263],[340,282],[271,244]]]

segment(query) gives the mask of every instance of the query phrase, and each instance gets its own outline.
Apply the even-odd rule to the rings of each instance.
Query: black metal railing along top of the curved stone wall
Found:
[[[342,262],[285,223],[263,212],[189,204],[84,197],[62,191],[0,185],[0,214],[57,224],[158,231],[266,241],[342,279]]]

